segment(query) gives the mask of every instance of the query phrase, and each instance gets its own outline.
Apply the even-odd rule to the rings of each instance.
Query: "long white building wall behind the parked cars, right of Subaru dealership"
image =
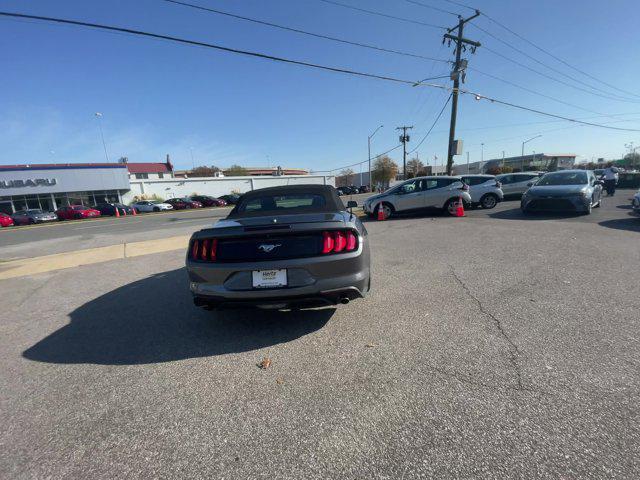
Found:
[[[123,203],[131,203],[137,199],[162,198],[163,200],[190,195],[210,195],[219,197],[231,192],[244,193],[250,190],[279,185],[332,185],[333,175],[287,175],[281,177],[199,177],[130,180],[131,189],[122,196]]]

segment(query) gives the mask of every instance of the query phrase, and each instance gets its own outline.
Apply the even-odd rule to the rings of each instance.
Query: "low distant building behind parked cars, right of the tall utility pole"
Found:
[[[485,162],[459,163],[454,174],[487,173],[494,167],[511,167],[514,172],[555,171],[573,168],[576,155],[572,153],[534,153],[518,157],[493,158]]]

